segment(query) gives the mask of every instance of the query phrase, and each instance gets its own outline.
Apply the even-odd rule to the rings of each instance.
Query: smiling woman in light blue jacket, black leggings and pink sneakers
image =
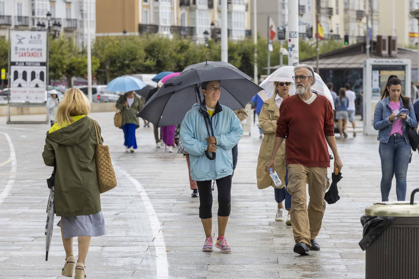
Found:
[[[195,104],[186,113],[181,124],[180,138],[191,161],[191,177],[197,181],[199,192],[199,218],[206,235],[202,251],[213,251],[212,240],[212,190],[211,181],[217,182],[218,189],[218,237],[215,247],[221,252],[231,252],[225,238],[228,216],[231,209],[231,177],[233,174],[233,148],[241,136],[243,128],[240,120],[230,108],[220,105],[220,81],[202,82],[202,104]],[[206,123],[213,136],[208,136]],[[205,155],[215,152],[215,160]],[[212,189],[211,189],[212,188]]]

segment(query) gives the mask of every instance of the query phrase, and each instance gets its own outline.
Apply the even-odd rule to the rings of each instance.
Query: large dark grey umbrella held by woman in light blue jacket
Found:
[[[195,103],[202,103],[203,95],[199,90],[202,82],[212,80],[221,81],[219,102],[232,110],[244,108],[254,95],[263,90],[232,69],[190,69],[166,81],[148,100],[137,117],[150,121],[156,127],[178,125]],[[212,129],[211,120],[205,120],[208,134],[211,136],[207,121]],[[208,154],[207,157],[210,158]],[[212,158],[215,159],[215,154]]]

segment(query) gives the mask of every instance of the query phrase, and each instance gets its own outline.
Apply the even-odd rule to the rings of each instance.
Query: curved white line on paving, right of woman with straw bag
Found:
[[[156,278],[168,278],[169,271],[168,271],[168,262],[167,262],[167,254],[166,254],[166,243],[164,242],[163,232],[161,230],[160,221],[158,220],[157,214],[154,210],[153,204],[150,201],[150,198],[145,192],[144,187],[142,187],[141,183],[138,182],[137,179],[129,175],[123,169],[120,169],[118,166],[114,165],[114,168],[119,171],[123,176],[127,177],[132,184],[137,187],[138,192],[140,192],[140,196],[142,202],[144,202],[145,209],[147,210],[148,219],[150,220],[151,231],[153,232],[153,237],[155,242],[161,243],[159,247],[154,246],[156,251]]]

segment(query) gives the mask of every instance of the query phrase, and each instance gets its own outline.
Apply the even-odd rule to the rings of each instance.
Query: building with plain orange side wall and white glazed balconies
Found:
[[[228,36],[251,36],[249,0],[228,0]],[[221,34],[220,0],[96,1],[96,36],[159,33],[203,43]]]

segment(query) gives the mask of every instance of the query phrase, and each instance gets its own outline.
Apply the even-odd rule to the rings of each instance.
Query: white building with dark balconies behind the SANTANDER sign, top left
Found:
[[[0,0],[0,36],[8,29],[45,29],[54,36],[71,37],[80,46],[87,43],[87,5],[91,11],[91,34],[95,33],[96,0]],[[48,17],[47,14],[50,13]]]

